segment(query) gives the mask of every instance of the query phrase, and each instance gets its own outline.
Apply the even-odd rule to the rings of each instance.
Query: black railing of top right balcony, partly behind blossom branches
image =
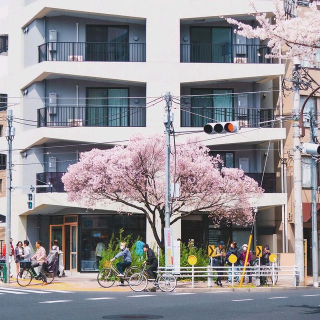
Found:
[[[180,62],[272,63],[269,53],[259,44],[180,44]]]

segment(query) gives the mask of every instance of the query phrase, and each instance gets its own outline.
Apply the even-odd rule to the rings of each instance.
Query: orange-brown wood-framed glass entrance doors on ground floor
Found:
[[[61,217],[62,218],[62,217]],[[59,241],[65,270],[77,269],[77,216],[63,216],[63,224],[50,224],[50,248],[53,240]]]

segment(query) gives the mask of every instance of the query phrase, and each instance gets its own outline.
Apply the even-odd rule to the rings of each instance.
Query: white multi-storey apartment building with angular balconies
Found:
[[[163,133],[164,101],[152,101],[170,91],[178,102],[172,105],[176,131],[240,121],[239,134],[222,134],[207,145],[227,166],[241,167],[257,181],[265,168],[255,240],[282,250],[282,218],[275,208],[286,203],[286,195],[276,181],[274,156],[285,129],[265,121],[278,114],[274,83],[284,64],[266,59],[265,43],[236,35],[221,18],[254,24],[248,0],[8,2],[0,21],[0,34],[8,35],[0,54],[0,93],[7,94],[16,128],[12,185],[53,184],[52,190],[36,190],[34,210],[27,209],[29,190],[14,189],[13,242],[28,238],[33,245],[39,238],[48,248],[57,238],[66,269],[77,271],[93,270],[96,243],[107,242],[119,228],[152,242],[139,212],[119,215],[116,204],[93,211],[68,202],[61,175],[82,151],[112,147],[105,142],[132,134]],[[255,5],[271,16],[272,1]],[[245,243],[248,235],[248,228],[236,225],[215,228],[200,212],[174,223],[173,231],[203,248],[220,239]]]

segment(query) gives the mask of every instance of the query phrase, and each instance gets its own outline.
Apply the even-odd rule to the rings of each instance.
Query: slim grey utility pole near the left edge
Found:
[[[6,264],[6,283],[10,282],[10,262],[11,252],[11,180],[12,180],[12,140],[15,129],[12,127],[12,110],[7,113],[8,126],[5,129],[5,137],[8,141],[8,151],[6,155],[6,217],[5,217],[5,264]]]

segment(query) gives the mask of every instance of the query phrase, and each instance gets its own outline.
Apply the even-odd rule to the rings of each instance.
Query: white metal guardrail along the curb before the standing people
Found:
[[[212,286],[214,279],[219,276],[230,276],[231,285],[235,283],[235,279],[241,276],[251,276],[252,282],[255,285],[267,284],[267,281],[275,285],[278,277],[283,277],[286,280],[292,279],[293,286],[297,285],[298,270],[296,266],[277,266],[275,264],[260,265],[260,266],[246,266],[243,271],[243,266],[183,266],[183,267],[164,267],[159,266],[161,272],[170,272],[176,278],[191,278],[192,287],[194,286],[194,278],[207,278],[207,286]]]

